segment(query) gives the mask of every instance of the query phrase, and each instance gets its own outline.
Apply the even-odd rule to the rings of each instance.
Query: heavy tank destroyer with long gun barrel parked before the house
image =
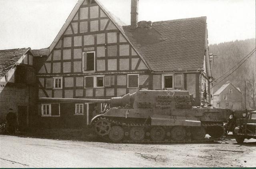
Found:
[[[41,102],[110,103],[90,122],[95,132],[113,142],[193,142],[224,135],[230,109],[193,107],[188,91],[140,90],[111,99],[40,98]],[[205,139],[209,134],[210,139]]]

